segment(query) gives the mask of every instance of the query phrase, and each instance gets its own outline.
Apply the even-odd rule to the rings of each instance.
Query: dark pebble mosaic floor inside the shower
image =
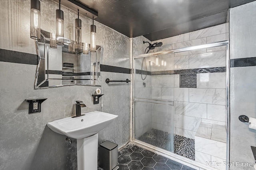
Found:
[[[150,145],[154,145],[164,150],[171,151],[171,134],[160,131],[157,129],[151,129],[138,140],[146,142]],[[195,140],[180,135],[174,135],[174,153],[186,158],[195,160]]]

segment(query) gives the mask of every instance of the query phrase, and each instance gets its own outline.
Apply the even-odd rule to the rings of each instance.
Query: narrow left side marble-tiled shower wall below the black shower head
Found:
[[[143,41],[149,41],[143,36],[135,37],[132,39],[133,44],[133,55],[143,54],[148,43],[143,44]],[[151,71],[150,59],[136,59],[134,62],[135,69]],[[142,67],[143,62],[143,67]],[[142,78],[145,80],[142,80]],[[153,90],[152,87],[152,77],[151,75],[145,74],[134,74],[135,86],[134,86],[134,97],[136,98],[152,98],[153,94],[156,93],[156,90]],[[135,102],[134,104],[134,135],[138,139],[145,132],[149,131],[152,128],[152,110],[151,104],[144,102]]]

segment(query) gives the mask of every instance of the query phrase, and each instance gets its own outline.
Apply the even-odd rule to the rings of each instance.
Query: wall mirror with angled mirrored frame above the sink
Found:
[[[101,46],[96,46],[96,52],[87,51],[88,54],[84,54],[83,49],[90,49],[90,44],[82,43],[82,47],[78,47],[75,41],[64,38],[64,45],[57,45],[52,34],[42,29],[41,39],[36,41],[36,46],[39,61],[35,89],[70,85],[101,86]]]

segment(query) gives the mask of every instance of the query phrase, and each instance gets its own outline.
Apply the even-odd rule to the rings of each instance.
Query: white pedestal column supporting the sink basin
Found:
[[[97,170],[98,133],[84,139],[77,139],[77,169]]]

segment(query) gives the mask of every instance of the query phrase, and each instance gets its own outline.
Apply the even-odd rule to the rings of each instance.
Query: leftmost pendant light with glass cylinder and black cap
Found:
[[[32,39],[40,39],[40,1],[39,0],[31,0],[30,1],[30,38]]]

